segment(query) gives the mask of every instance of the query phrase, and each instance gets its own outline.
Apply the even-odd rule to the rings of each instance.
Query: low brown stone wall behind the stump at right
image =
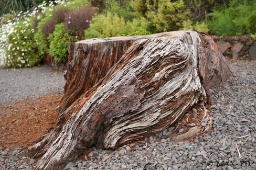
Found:
[[[249,36],[220,38],[211,36],[220,52],[228,58],[237,60],[240,57],[256,60],[256,41]]]

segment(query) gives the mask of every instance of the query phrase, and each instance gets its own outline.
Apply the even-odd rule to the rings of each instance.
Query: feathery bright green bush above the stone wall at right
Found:
[[[210,31],[220,36],[255,33],[255,9],[255,1],[230,1],[228,7],[216,8],[209,14]]]

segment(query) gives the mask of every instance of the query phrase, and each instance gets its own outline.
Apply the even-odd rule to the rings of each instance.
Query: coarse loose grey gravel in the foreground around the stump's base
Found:
[[[132,149],[126,146],[116,151],[93,148],[89,161],[67,163],[66,169],[255,169],[255,65],[256,61],[232,63],[234,80],[228,81],[223,87],[210,89],[214,114],[210,135],[205,134],[194,142],[186,143],[172,142],[165,135],[161,141],[156,142],[154,136],[145,139],[147,144],[144,146],[137,145]],[[244,135],[246,137],[242,137]],[[10,160],[9,157],[15,157],[12,152],[0,151],[2,169],[11,166],[13,169],[26,169],[33,165],[33,160],[25,164],[22,160],[18,163]],[[218,167],[223,161],[225,167]],[[240,161],[244,161],[242,166]]]

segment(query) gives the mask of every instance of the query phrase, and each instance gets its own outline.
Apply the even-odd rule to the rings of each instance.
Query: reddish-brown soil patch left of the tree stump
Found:
[[[55,126],[62,93],[50,93],[0,105],[0,143],[24,148],[36,143]]]

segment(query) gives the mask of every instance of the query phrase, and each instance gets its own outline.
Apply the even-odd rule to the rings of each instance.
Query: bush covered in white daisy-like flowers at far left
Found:
[[[61,4],[62,1],[55,3]],[[52,7],[54,3],[50,2],[48,5]],[[31,12],[10,13],[1,17],[0,66],[33,66],[39,62],[31,17],[45,13],[47,8],[47,3],[44,2]],[[5,19],[8,17],[9,19]]]

